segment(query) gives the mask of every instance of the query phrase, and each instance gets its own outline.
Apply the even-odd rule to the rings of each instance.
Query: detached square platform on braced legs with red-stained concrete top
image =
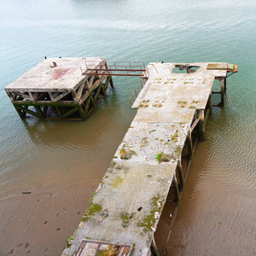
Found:
[[[40,119],[73,116],[86,119],[106,95],[111,76],[84,74],[88,68],[106,68],[104,58],[49,58],[5,87],[20,118]],[[104,82],[105,81],[105,82]]]

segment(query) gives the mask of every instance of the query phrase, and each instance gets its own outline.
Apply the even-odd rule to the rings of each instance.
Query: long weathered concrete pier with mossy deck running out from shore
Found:
[[[172,73],[175,67],[186,68],[188,73]],[[200,68],[194,73],[194,67]],[[63,256],[115,255],[110,247],[106,254],[96,254],[85,246],[83,254],[82,240],[132,245],[129,253],[133,250],[136,256],[157,253],[154,231],[166,197],[171,185],[177,197],[177,185],[183,185],[183,148],[188,145],[192,159],[191,132],[198,131],[204,139],[212,83],[220,79],[225,88],[227,72],[234,71],[226,63],[149,63],[147,68],[149,78],[132,106],[138,108],[137,115]],[[118,248],[115,253],[128,255]]]

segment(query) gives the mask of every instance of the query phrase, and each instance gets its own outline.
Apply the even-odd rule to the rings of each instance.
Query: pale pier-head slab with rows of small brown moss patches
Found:
[[[170,74],[148,79],[132,108],[204,109],[215,76]],[[186,102],[182,104],[182,102]]]

